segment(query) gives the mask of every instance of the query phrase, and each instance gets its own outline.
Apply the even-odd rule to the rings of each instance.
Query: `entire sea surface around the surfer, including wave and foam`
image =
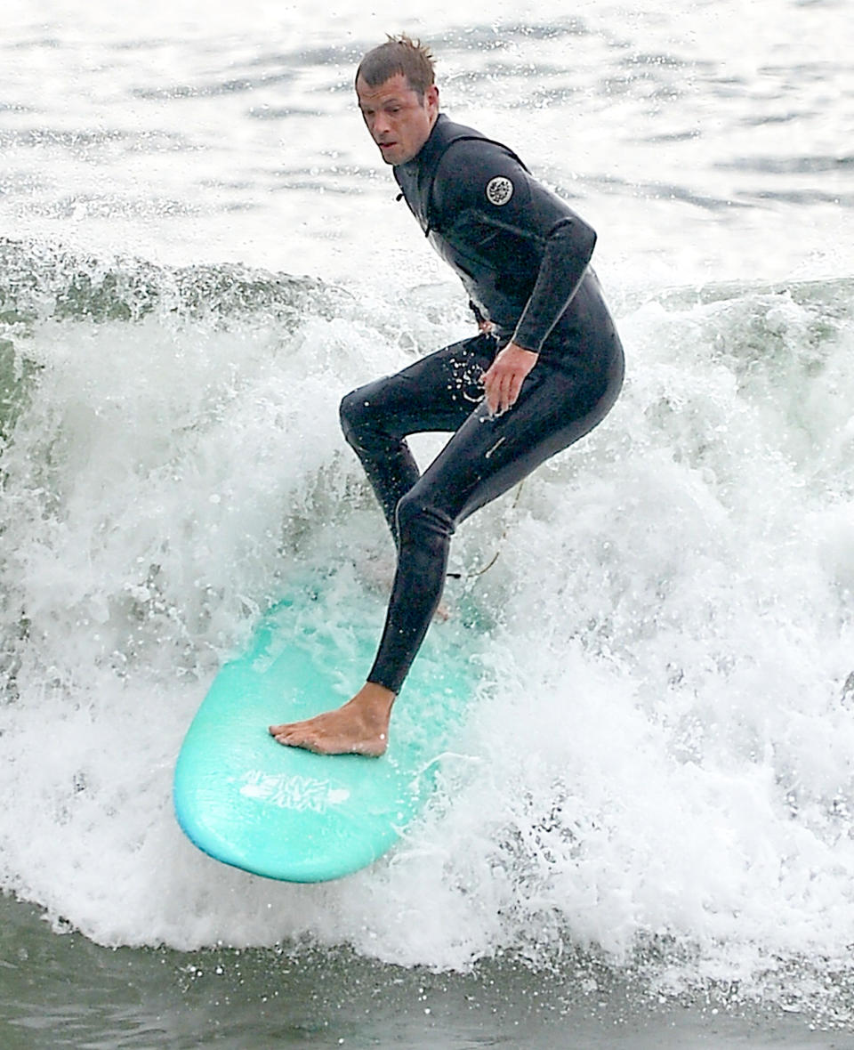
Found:
[[[851,6],[560,12],[5,0],[4,1048],[854,1047]],[[627,378],[455,538],[423,818],[285,885],[171,777],[291,581],[387,586],[341,396],[472,331],[355,105],[401,30],[598,231]]]

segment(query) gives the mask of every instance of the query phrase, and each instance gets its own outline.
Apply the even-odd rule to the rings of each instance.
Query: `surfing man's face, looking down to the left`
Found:
[[[430,138],[439,116],[439,88],[432,84],[420,98],[403,74],[371,87],[356,81],[359,108],[371,139],[386,164],[406,164]]]

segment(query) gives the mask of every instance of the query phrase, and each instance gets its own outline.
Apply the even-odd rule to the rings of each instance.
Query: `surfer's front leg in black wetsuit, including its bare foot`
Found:
[[[281,743],[324,754],[380,755],[394,697],[418,653],[445,583],[454,527],[599,423],[622,383],[617,341],[593,376],[540,362],[516,404],[492,418],[481,405],[398,507],[398,571],[385,629],[368,680],[336,711],[271,727]]]

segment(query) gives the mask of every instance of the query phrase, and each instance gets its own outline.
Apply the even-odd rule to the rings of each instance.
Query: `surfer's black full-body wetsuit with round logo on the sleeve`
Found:
[[[368,681],[399,692],[439,605],[454,528],[590,432],[622,384],[619,337],[589,267],[594,231],[506,146],[441,114],[394,169],[402,196],[493,333],[348,394],[344,435],[398,545]],[[491,416],[482,376],[511,339],[539,354],[516,403]],[[405,438],[453,430],[420,475]]]

